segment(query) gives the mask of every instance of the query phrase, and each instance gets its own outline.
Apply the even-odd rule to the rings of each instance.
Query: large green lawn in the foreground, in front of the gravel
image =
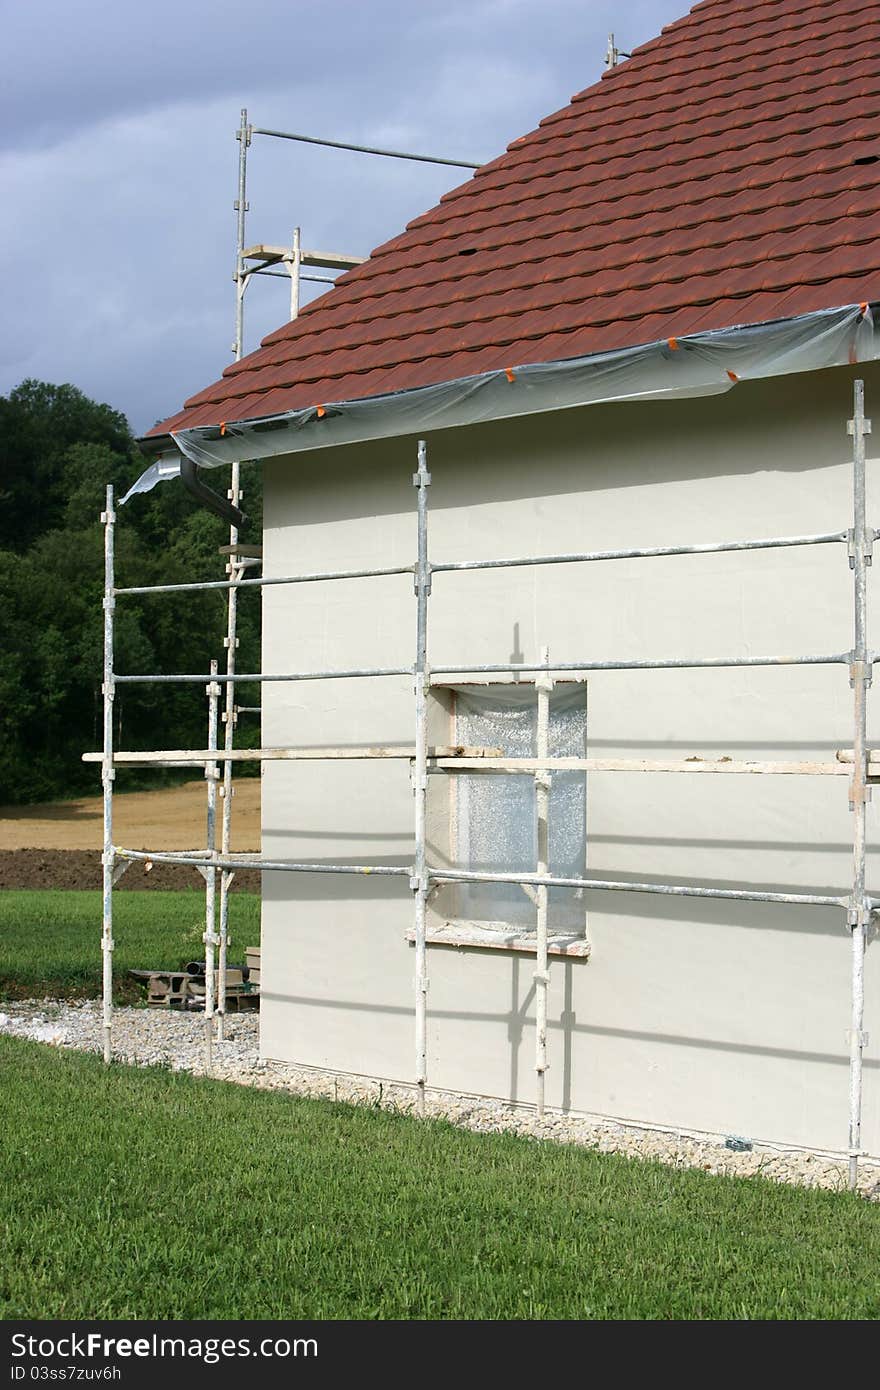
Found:
[[[880,1208],[0,1037],[6,1318],[877,1318]]]

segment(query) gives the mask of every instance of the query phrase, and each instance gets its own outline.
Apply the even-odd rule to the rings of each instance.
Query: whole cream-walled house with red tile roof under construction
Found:
[[[551,1106],[840,1151],[856,1079],[880,1154],[856,698],[880,612],[869,584],[854,635],[849,564],[858,600],[879,58],[880,6],[703,0],[145,442],[263,460],[267,577],[398,571],[264,589],[266,673],[398,673],[267,681],[266,746],[417,746],[427,507],[437,873],[418,762],[416,796],[409,756],[266,762],[267,860],[391,870],[264,873],[267,1058],[531,1104],[546,1005]],[[532,766],[480,767],[499,755]],[[589,766],[548,794],[541,756]],[[744,763],[776,771],[724,774]],[[474,878],[539,865],[617,884],[549,888],[546,970],[546,885]]]

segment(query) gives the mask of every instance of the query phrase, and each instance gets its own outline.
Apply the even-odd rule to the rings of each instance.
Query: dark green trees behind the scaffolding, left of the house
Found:
[[[146,463],[128,421],[71,385],[24,381],[0,398],[0,803],[99,788],[82,753],[101,746],[107,484],[121,498]],[[227,470],[211,485],[225,493]],[[247,477],[247,514],[260,537],[260,478]],[[228,527],[177,484],[117,509],[117,584],[224,578]],[[259,589],[239,595],[239,669],[260,669]],[[125,598],[115,610],[117,671],[207,671],[225,664],[227,594]],[[257,688],[242,691],[259,703]],[[125,748],[206,742],[202,685],[121,685],[115,741]],[[239,742],[259,742],[259,721]],[[120,770],[118,787],[157,783]],[[165,780],[167,780],[165,774]]]

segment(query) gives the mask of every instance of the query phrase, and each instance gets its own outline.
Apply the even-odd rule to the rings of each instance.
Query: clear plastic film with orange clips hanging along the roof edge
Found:
[[[577,406],[722,395],[740,381],[855,366],[877,357],[880,345],[872,306],[848,304],[589,357],[512,364],[364,400],[316,402],[256,420],[196,425],[172,434],[171,439],[199,467],[218,468],[236,460],[271,459]],[[179,457],[167,449],[129,488],[122,503],[178,473]]]

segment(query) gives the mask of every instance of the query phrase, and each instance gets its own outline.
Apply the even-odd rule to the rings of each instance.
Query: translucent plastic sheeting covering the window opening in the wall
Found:
[[[456,687],[455,741],[500,748],[507,758],[538,756],[535,687]],[[587,751],[587,687],[557,685],[551,694],[552,758],[584,758]],[[455,796],[452,853],[459,869],[488,873],[534,873],[538,859],[535,783],[520,773],[462,774],[452,780]],[[551,873],[582,877],[587,865],[587,780],[584,773],[553,773],[549,802]],[[455,885],[455,916],[482,926],[534,930],[535,906],[517,884]],[[551,888],[552,930],[582,931],[582,894]]]

